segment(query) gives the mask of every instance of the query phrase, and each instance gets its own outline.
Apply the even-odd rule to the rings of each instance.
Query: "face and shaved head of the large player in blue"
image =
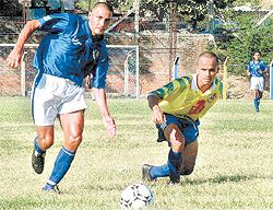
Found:
[[[88,13],[90,28],[93,35],[102,35],[109,26],[112,13],[105,7],[97,7]]]

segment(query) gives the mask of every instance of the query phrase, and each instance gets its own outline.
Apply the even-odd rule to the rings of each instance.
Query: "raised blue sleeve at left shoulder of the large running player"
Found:
[[[60,33],[63,32],[69,24],[69,14],[50,14],[38,19],[38,21],[40,23],[40,26],[38,28],[39,31]]]

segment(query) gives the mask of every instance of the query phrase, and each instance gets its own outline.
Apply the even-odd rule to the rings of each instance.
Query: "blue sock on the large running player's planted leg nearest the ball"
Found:
[[[75,152],[68,151],[64,147],[60,150],[56,161],[51,176],[48,184],[57,185],[70,168],[72,161],[74,160]]]

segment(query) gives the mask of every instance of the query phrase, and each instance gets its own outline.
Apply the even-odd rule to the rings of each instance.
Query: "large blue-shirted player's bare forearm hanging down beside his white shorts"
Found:
[[[116,135],[117,128],[114,118],[109,114],[105,90],[93,88],[92,91],[103,117],[105,128],[107,129],[110,138],[112,138]]]

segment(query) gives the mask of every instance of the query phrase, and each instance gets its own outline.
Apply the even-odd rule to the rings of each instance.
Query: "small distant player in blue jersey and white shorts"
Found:
[[[264,88],[264,73],[269,70],[266,63],[261,60],[261,52],[254,51],[253,60],[247,66],[247,74],[250,77],[250,90],[253,92],[253,105],[257,113],[260,112],[260,101]]]

